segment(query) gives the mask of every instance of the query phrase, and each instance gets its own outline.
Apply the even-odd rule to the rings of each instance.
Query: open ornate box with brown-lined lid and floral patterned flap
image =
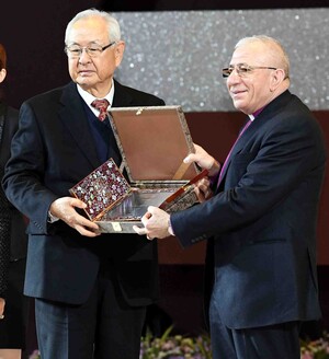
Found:
[[[197,202],[194,184],[207,173],[183,162],[194,147],[181,106],[114,107],[109,117],[122,163],[110,159],[70,189],[102,232],[133,233],[148,206],[172,212]]]

